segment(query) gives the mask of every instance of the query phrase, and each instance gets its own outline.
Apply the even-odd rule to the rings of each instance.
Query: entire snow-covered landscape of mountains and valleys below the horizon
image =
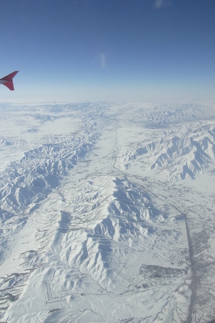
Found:
[[[215,317],[215,109],[0,104],[0,321]]]

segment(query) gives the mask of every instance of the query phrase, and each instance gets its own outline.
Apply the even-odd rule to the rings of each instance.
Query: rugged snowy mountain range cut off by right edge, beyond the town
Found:
[[[150,131],[142,142],[132,143],[119,156],[125,169],[138,159],[142,168],[159,170],[167,180],[194,179],[215,169],[215,122],[183,124],[171,130]]]

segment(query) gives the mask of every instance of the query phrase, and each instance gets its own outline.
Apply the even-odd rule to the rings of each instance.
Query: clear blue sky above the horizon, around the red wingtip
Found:
[[[0,0],[0,101],[214,96],[214,0]]]

